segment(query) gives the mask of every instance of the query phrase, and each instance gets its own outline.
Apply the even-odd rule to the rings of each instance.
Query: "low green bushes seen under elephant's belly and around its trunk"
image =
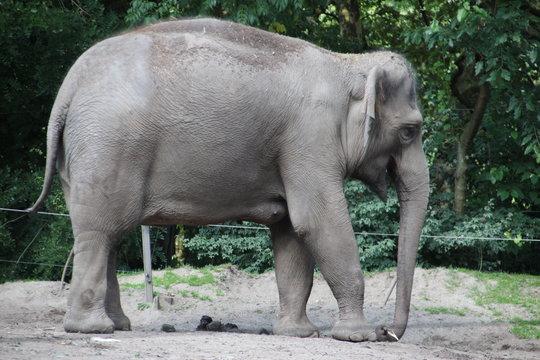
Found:
[[[389,190],[388,202],[384,204],[361,182],[351,180],[346,183],[345,194],[363,269],[395,267],[397,236],[393,234],[399,231],[399,203],[395,191]],[[538,238],[539,219],[507,209],[496,210],[493,203],[468,216],[458,216],[441,205],[443,200],[433,198],[428,208],[418,249],[419,265],[540,273],[540,244],[483,239]],[[229,262],[251,272],[266,271],[273,266],[268,232],[191,229],[182,237],[186,261],[191,265]]]

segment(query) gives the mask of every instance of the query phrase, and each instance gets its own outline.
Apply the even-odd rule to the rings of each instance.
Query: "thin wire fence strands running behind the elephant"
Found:
[[[10,220],[7,223],[11,223],[14,221],[17,221],[21,219],[22,217],[28,215],[30,212],[28,210],[20,210],[20,209],[10,209],[10,208],[0,208],[0,211],[6,211],[6,212],[16,212],[16,213],[24,213],[24,215],[14,219]],[[54,213],[54,212],[47,212],[47,211],[38,211],[36,212],[40,215],[47,215],[47,216],[61,216],[61,217],[69,217],[69,214],[61,214],[61,213]],[[5,223],[5,224],[7,224]],[[4,224],[4,225],[5,225]],[[223,229],[238,229],[238,230],[257,230],[257,231],[270,231],[270,229],[266,226],[250,226],[250,225],[227,225],[227,224],[211,224],[211,225],[205,225],[201,227],[214,227],[214,228],[223,228]],[[354,232],[355,235],[363,235],[363,236],[384,236],[384,237],[398,237],[399,234],[393,234],[393,233],[375,233],[375,232],[366,232],[366,231],[360,231],[360,232]],[[37,237],[37,235],[36,235]],[[499,237],[478,237],[478,236],[460,236],[460,235],[421,235],[422,238],[426,239],[463,239],[463,240],[483,240],[483,241],[514,241],[514,242],[540,242],[540,239],[518,239],[518,238],[499,238]],[[21,255],[22,257],[22,255]],[[7,260],[7,259],[0,259],[0,263],[16,263],[16,264],[27,264],[27,265],[40,265],[40,266],[54,266],[54,267],[65,267],[66,265],[62,264],[49,264],[49,263],[41,263],[41,262],[29,262],[29,261],[20,261],[19,260]],[[67,267],[71,268],[71,265],[67,265]],[[139,271],[130,271],[130,270],[117,270],[119,273],[139,273]]]

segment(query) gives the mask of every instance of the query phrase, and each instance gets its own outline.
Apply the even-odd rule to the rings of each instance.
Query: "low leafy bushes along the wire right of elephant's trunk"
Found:
[[[419,263],[538,274],[537,243],[490,238],[539,238],[539,225],[538,219],[521,212],[494,209],[493,202],[462,218],[448,208],[430,205],[423,233],[434,237],[420,239]]]

